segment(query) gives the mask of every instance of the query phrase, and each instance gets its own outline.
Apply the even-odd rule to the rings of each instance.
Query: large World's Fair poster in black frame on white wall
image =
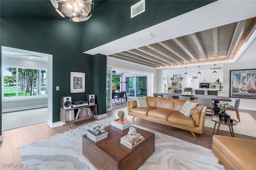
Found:
[[[230,70],[230,97],[256,99],[256,69]]]

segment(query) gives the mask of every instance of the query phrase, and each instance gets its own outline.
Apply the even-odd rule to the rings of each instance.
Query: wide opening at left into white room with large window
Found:
[[[52,55],[2,46],[1,57],[2,130],[42,122],[51,126]]]

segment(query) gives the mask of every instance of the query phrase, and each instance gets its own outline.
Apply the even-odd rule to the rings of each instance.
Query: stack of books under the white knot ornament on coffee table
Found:
[[[126,146],[127,148],[134,148],[145,140],[144,136],[139,133],[136,134],[126,134],[120,138],[120,143]]]

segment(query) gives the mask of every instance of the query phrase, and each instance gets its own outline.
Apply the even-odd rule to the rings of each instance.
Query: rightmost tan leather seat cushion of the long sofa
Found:
[[[175,123],[178,125],[184,125],[184,126],[188,126],[188,127],[195,127],[195,121],[194,119],[190,116],[187,117],[185,115],[182,115],[182,113],[180,112],[175,112],[172,115],[170,115],[167,118],[168,122],[170,123]]]

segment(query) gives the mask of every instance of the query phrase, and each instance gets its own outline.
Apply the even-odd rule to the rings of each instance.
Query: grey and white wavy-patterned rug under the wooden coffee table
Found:
[[[107,125],[111,120],[104,119],[100,123]],[[224,170],[210,149],[133,126],[155,134],[155,152],[139,170]],[[96,170],[82,154],[82,135],[86,134],[87,127],[84,125],[20,148],[22,163],[28,165],[24,169]]]

